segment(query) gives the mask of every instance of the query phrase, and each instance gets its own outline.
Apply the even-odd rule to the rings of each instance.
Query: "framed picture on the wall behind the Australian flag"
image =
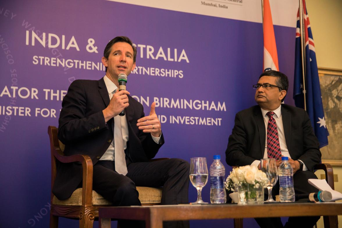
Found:
[[[318,68],[329,144],[320,149],[322,163],[342,166],[342,70]]]

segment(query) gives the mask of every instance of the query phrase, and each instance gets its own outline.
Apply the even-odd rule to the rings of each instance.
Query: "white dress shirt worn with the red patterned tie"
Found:
[[[267,158],[267,124],[268,124],[268,119],[269,119],[269,117],[266,115],[267,112],[269,112],[269,111],[261,108],[261,113],[262,113],[262,116],[264,118],[265,131],[266,131],[265,150],[264,150],[264,157],[263,158]],[[282,116],[281,116],[281,105],[277,109],[273,110],[273,112],[274,112],[273,118],[275,119],[276,124],[277,124],[281,156],[291,158],[289,150],[287,149],[286,140],[285,140],[284,125],[282,123]],[[301,160],[299,160],[299,161],[301,161]],[[255,161],[253,161],[253,163],[251,165],[258,166],[259,164],[260,164],[260,161],[255,160]],[[303,164],[304,164],[304,162],[303,162]],[[303,165],[303,170],[308,170],[305,164]]]

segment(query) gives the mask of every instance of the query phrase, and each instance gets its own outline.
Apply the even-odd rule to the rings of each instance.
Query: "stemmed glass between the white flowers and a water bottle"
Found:
[[[266,187],[268,189],[268,199],[264,202],[275,203],[272,198],[272,188],[278,181],[278,168],[274,158],[265,158],[260,161],[260,169],[263,171],[268,179]]]

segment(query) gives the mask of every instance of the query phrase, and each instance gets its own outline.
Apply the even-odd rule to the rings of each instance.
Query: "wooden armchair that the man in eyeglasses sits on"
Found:
[[[237,167],[237,166],[233,166]],[[334,189],[334,173],[332,171],[332,167],[330,164],[317,164],[314,167],[314,172],[316,170],[324,170],[325,172],[325,179],[329,186]],[[333,228],[338,228],[338,220],[337,216],[323,216],[324,220],[324,227],[333,227]],[[234,228],[242,228],[244,226],[243,224],[243,218],[234,218]]]

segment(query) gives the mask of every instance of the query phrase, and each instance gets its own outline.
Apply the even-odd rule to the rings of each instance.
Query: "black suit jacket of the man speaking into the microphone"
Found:
[[[129,141],[125,150],[131,162],[144,162],[153,158],[164,143],[152,139],[150,133],[143,133],[136,126],[144,117],[143,106],[128,95],[129,106],[125,109]],[[75,80],[70,84],[63,98],[59,118],[58,139],[65,144],[66,156],[88,155],[95,164],[108,149],[113,140],[112,121],[105,122],[102,110],[109,104],[109,95],[102,79]],[[78,163],[57,163],[57,175],[53,193],[58,199],[67,199],[82,180],[82,166]]]

